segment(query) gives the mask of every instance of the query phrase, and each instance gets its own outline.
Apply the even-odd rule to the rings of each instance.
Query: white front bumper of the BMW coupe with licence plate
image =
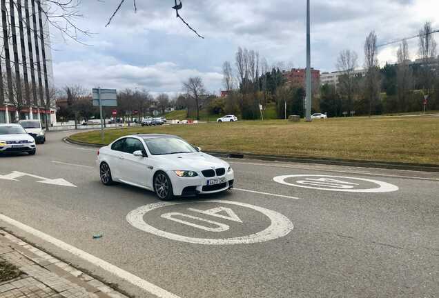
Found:
[[[199,194],[213,194],[233,188],[235,175],[233,170],[226,172],[225,175],[219,177],[206,178],[202,175],[197,177],[178,177],[175,172],[167,172],[170,181],[173,184],[175,196],[193,196]],[[211,179],[226,178],[226,182],[213,186],[207,186],[207,181]]]

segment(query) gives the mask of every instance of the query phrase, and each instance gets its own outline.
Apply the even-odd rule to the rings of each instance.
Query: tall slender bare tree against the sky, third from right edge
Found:
[[[378,48],[375,31],[371,31],[364,42],[364,68],[367,70],[364,95],[369,101],[370,116],[372,106],[375,105],[380,96],[380,72],[378,69]]]

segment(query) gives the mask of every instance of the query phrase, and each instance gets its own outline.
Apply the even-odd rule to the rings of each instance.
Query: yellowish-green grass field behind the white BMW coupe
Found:
[[[439,117],[240,121],[109,130],[104,143],[135,133],[179,135],[203,150],[439,164]],[[77,141],[102,143],[99,131]]]

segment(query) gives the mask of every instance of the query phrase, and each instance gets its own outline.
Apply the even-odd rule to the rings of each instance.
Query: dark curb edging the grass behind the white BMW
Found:
[[[108,144],[94,144],[75,141],[66,137],[63,139],[68,143],[76,145],[99,148]],[[257,155],[253,153],[225,152],[225,151],[204,151],[209,155],[233,159],[256,159],[262,161],[286,161],[295,163],[319,163],[332,166],[353,166],[360,168],[384,168],[391,170],[412,170],[418,172],[439,172],[439,166],[428,163],[398,163],[387,161],[360,161],[355,159],[331,159],[324,157],[288,157],[282,155]]]

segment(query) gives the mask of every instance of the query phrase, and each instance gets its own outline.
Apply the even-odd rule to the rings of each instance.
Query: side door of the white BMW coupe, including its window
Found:
[[[144,157],[134,156],[135,151],[144,152]],[[148,157],[142,141],[134,137],[126,138],[121,159],[121,172],[124,178],[121,179],[137,186],[149,187],[151,170],[148,166]]]

